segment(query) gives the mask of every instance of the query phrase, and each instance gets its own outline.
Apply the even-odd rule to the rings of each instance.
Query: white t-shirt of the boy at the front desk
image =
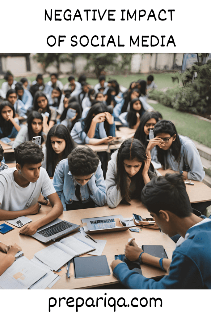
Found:
[[[8,168],[0,173],[0,209],[24,210],[37,203],[41,189],[44,197],[56,192],[44,168],[40,168],[38,180],[35,183],[29,183],[27,187],[21,187],[15,182],[14,171],[16,167]]]

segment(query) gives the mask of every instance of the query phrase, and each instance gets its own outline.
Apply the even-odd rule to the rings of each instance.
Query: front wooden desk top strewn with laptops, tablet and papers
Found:
[[[36,221],[40,217],[43,217],[50,209],[49,206],[42,206],[40,212],[37,215],[28,216],[33,221]],[[99,216],[112,216],[115,214],[121,214],[123,217],[132,217],[132,213],[136,213],[142,217],[148,217],[149,212],[146,208],[138,201],[132,201],[131,206],[119,205],[114,209],[110,209],[108,206],[82,209],[82,210],[72,210],[64,211],[63,214],[59,217],[70,221],[72,223],[81,223],[81,218],[84,217],[99,217]],[[3,221],[0,221],[0,224]],[[18,233],[19,229],[14,227],[15,230],[8,232],[5,235],[1,235],[1,241],[5,244],[11,244],[16,242],[22,247],[24,255],[28,259],[32,259],[34,253],[38,252],[41,249],[44,249],[54,242],[41,243],[36,239],[30,236],[24,236]],[[142,228],[142,227],[139,227]],[[120,232],[110,232],[102,234],[94,234],[95,239],[107,240],[105,248],[102,255],[106,255],[109,268],[111,262],[114,260],[115,254],[124,254],[125,243],[128,242],[128,238],[136,238],[136,242],[139,246],[143,244],[157,244],[163,245],[167,251],[168,257],[171,258],[172,252],[175,249],[175,243],[165,234],[159,232],[159,230],[152,230],[147,228],[142,228],[142,231],[139,233],[131,232],[129,230],[120,231]],[[87,256],[87,255],[84,255]],[[142,273],[146,277],[155,277],[163,275],[163,271],[159,268],[148,266],[145,264],[141,265]],[[111,271],[111,269],[110,269]],[[70,270],[71,272],[71,270]],[[113,276],[112,271],[109,276],[100,276],[100,277],[89,277],[74,279],[74,277],[67,278],[66,274],[61,277],[59,281],[52,287],[53,289],[74,289],[74,288],[90,288],[96,286],[103,286],[108,284],[114,284],[118,281]]]

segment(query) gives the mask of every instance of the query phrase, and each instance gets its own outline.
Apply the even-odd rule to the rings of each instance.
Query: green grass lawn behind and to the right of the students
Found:
[[[172,74],[175,73],[153,74],[154,80],[158,85],[158,89],[177,86],[177,83],[173,83],[171,80]],[[147,74],[106,76],[107,80],[115,79],[124,87],[129,87],[131,81],[137,81],[138,79],[146,80],[146,78]],[[16,81],[19,81],[21,77],[16,77],[15,79]],[[35,77],[28,77],[28,79],[32,82]],[[44,78],[45,83],[49,80],[50,77]],[[59,80],[63,83],[63,85],[65,85],[68,81],[67,78],[60,78]],[[3,81],[4,79],[0,79],[0,87]],[[90,85],[96,85],[98,83],[98,80],[87,78],[87,82]],[[211,123],[200,120],[190,113],[183,113],[175,109],[165,107],[160,103],[152,104],[152,107],[162,113],[164,119],[173,121],[178,133],[186,135],[189,138],[198,141],[199,143],[211,147]]]

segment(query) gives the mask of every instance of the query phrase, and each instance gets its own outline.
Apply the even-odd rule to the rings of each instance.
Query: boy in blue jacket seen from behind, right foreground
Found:
[[[164,233],[180,234],[183,239],[178,240],[172,260],[150,256],[134,239],[125,245],[129,260],[168,271],[160,281],[129,270],[120,260],[112,262],[113,274],[127,288],[133,289],[211,289],[211,218],[192,213],[182,176],[166,174],[153,178],[145,185],[141,201]]]

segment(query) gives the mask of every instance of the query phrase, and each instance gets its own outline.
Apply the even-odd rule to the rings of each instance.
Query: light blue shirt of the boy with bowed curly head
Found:
[[[76,180],[74,182],[74,177],[69,170],[68,160],[63,159],[56,166],[53,176],[53,186],[61,199],[64,210],[66,210],[66,204],[72,204],[73,200],[78,200],[75,196],[76,184],[79,183]],[[101,207],[105,204],[105,180],[103,178],[101,162],[99,162],[97,170],[90,180],[85,185],[79,185],[81,186],[82,203],[87,203],[91,199],[97,206]]]

